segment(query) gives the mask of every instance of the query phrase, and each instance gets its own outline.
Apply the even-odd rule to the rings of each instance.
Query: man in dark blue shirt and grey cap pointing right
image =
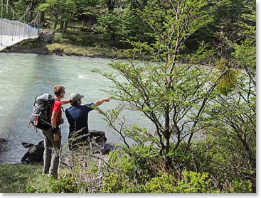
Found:
[[[68,136],[70,150],[78,149],[88,142],[88,113],[94,109],[94,106],[99,106],[104,101],[110,101],[109,98],[104,98],[90,104],[81,105],[83,97],[83,95],[78,93],[70,94],[71,106],[65,110],[65,115],[70,125]]]

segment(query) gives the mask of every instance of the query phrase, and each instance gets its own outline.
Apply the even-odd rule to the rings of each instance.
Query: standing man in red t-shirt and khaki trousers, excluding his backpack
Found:
[[[44,128],[44,153],[43,153],[43,173],[57,177],[58,167],[60,162],[60,146],[61,146],[61,131],[59,125],[63,123],[61,107],[63,104],[68,104],[69,99],[60,101],[65,96],[65,87],[58,84],[53,87],[55,100],[50,107],[50,126]],[[53,150],[53,155],[52,155]]]

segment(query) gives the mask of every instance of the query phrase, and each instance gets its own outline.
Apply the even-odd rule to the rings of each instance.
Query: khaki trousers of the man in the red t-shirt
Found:
[[[44,136],[44,153],[43,153],[43,173],[49,173],[57,177],[58,167],[60,164],[60,145],[61,145],[61,132],[58,130],[59,141],[53,141],[52,128],[43,129]],[[52,155],[53,151],[53,155]]]

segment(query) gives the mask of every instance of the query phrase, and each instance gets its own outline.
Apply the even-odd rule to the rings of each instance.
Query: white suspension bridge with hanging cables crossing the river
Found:
[[[18,15],[8,0],[1,0],[0,52],[23,40],[39,36],[39,12],[30,11],[28,7],[21,16]]]

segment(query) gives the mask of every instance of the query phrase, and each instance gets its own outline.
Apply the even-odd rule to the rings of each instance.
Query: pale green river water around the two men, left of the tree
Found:
[[[0,54],[0,163],[20,163],[27,149],[22,142],[38,143],[43,140],[40,130],[28,126],[28,116],[33,108],[36,95],[53,94],[53,84],[63,84],[65,99],[72,92],[79,92],[87,104],[97,99],[110,97],[100,89],[109,89],[110,81],[92,72],[96,68],[103,72],[114,72],[108,67],[111,60],[90,57],[69,57],[21,53]],[[113,109],[119,101],[105,102],[100,109]],[[63,106],[64,109],[70,104]],[[63,113],[65,119],[65,114]],[[147,127],[149,121],[137,111],[125,111],[129,123]],[[150,126],[151,127],[151,126]],[[68,121],[62,128],[62,145],[68,141]],[[105,131],[107,143],[120,143],[120,138],[109,128],[97,111],[89,114],[90,130]]]

